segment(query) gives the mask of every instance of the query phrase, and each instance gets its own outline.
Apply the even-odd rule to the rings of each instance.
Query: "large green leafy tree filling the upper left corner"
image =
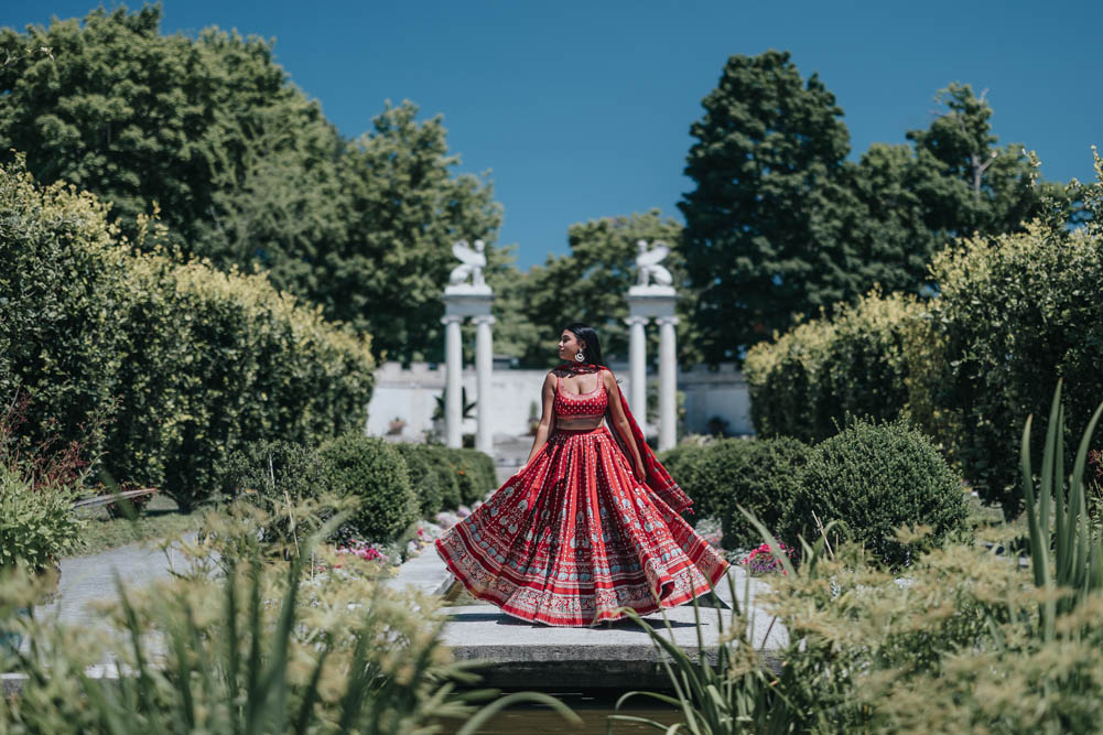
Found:
[[[157,4],[0,31],[0,53],[52,50],[0,68],[0,150],[24,151],[41,181],[111,202],[131,232],[157,202],[174,239],[191,243],[215,202],[216,153],[244,147],[226,124],[304,99],[268,43],[217,29],[164,36],[160,23]]]

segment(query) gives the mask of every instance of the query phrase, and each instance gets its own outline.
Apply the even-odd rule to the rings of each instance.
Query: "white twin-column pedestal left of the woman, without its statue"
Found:
[[[491,454],[493,450],[490,412],[491,374],[493,372],[493,348],[491,343],[490,315],[494,295],[485,284],[459,284],[445,288],[445,441],[449,447],[463,446],[461,430],[463,422],[463,398],[460,375],[463,371],[463,349],[460,324],[468,317],[475,322],[475,447]]]

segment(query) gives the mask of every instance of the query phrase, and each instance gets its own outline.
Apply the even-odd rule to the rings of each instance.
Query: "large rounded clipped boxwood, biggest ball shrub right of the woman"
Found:
[[[838,521],[839,533],[889,566],[906,564],[911,555],[897,529],[927,525],[927,543],[940,544],[966,528],[961,478],[930,439],[903,419],[852,419],[813,448],[799,481],[788,537],[801,533],[812,541],[815,513],[825,524]]]

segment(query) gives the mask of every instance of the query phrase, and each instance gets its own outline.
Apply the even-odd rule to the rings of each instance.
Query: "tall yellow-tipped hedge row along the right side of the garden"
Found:
[[[961,241],[934,258],[940,295],[930,301],[870,295],[757,345],[745,369],[758,435],[814,441],[847,413],[904,416],[984,500],[1016,514],[1018,435],[1032,414],[1040,446],[1053,375],[1070,387],[1070,424],[1086,423],[1103,394],[1097,220]]]

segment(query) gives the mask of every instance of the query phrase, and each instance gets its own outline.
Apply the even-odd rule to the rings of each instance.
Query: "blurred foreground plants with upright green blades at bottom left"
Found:
[[[310,553],[310,541],[290,563],[266,564],[255,528],[212,515],[206,541],[190,553],[193,573],[142,592],[120,580],[111,620],[122,635],[109,643],[50,621],[13,621],[32,585],[6,579],[0,625],[28,633],[31,645],[15,656],[0,651],[4,671],[28,677],[20,696],[0,700],[0,733],[397,735],[468,718],[472,703],[492,694],[457,691],[475,678],[450,661],[432,600],[394,596],[367,563],[342,558],[336,569]],[[224,578],[211,574],[212,552]],[[115,685],[88,675],[106,645],[122,651]],[[574,717],[553,697],[520,694],[461,732],[518,700]]]

